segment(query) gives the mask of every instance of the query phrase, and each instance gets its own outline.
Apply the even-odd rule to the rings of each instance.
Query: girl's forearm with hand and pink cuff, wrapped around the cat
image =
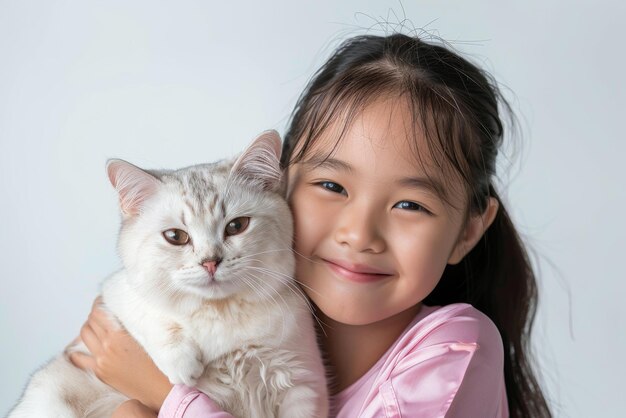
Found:
[[[118,329],[99,308],[92,306],[80,337],[91,355],[74,352],[72,363],[91,370],[104,383],[131,400],[115,411],[114,417],[206,417],[232,418],[204,393],[186,386],[173,386],[133,337]]]

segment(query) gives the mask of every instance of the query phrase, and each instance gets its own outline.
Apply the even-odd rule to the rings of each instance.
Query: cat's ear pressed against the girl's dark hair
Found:
[[[277,190],[282,175],[280,154],[280,135],[275,130],[265,131],[241,153],[230,173],[258,182],[266,190]]]

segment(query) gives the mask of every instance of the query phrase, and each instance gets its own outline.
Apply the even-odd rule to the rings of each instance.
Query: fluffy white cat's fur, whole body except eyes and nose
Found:
[[[104,281],[102,297],[172,383],[197,387],[235,417],[325,417],[312,316],[292,279],[279,156],[280,138],[267,131],[236,161],[158,172],[109,161],[124,269]],[[250,217],[247,229],[226,236],[239,217]],[[170,244],[162,233],[172,228],[190,243]],[[212,275],[202,263],[215,259]],[[9,417],[108,417],[124,400],[65,353],[32,377]]]

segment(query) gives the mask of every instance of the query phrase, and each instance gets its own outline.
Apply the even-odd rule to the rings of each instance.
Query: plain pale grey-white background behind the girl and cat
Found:
[[[623,4],[0,0],[0,414],[120,265],[107,158],[175,168],[282,134],[338,41],[406,15],[493,72],[522,120],[503,180],[555,416],[623,416]]]

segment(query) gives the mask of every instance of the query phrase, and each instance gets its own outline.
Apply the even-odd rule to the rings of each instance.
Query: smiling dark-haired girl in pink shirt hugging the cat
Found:
[[[296,278],[320,318],[337,417],[549,417],[528,357],[537,289],[492,183],[495,82],[401,34],[344,42],[300,97],[282,163]],[[116,416],[226,417],[172,387],[97,303],[72,361]]]

